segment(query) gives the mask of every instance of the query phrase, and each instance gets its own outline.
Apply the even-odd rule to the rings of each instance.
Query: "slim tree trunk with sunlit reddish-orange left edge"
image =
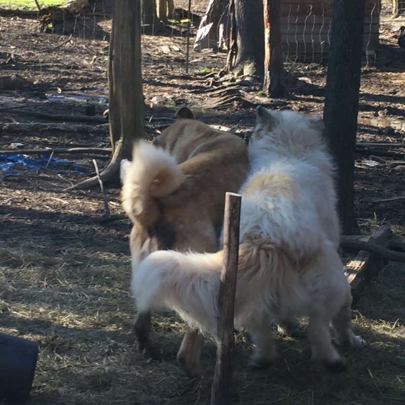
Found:
[[[271,97],[284,95],[280,0],[263,0],[264,82],[263,91]]]

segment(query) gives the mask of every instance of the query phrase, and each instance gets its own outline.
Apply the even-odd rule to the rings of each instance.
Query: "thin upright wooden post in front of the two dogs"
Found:
[[[211,405],[232,402],[233,314],[239,256],[239,194],[227,192],[224,214],[224,263],[218,297],[217,363],[211,391]]]

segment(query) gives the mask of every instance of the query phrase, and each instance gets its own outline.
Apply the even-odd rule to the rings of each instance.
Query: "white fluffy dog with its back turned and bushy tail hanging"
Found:
[[[345,359],[332,345],[361,344],[351,326],[350,287],[337,253],[333,165],[319,117],[257,110],[249,147],[251,174],[242,186],[235,325],[253,339],[254,367],[275,356],[271,323],[309,316],[312,358],[334,370]],[[192,328],[217,334],[223,252],[133,249],[132,290],[139,311],[171,308]]]

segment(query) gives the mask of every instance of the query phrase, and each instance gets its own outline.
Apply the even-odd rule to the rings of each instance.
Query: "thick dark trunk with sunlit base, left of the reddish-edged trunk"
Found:
[[[235,0],[236,75],[264,77],[263,0]]]

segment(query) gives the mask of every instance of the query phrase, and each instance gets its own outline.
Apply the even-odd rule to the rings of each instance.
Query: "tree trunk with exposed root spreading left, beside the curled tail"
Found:
[[[112,156],[100,173],[103,181],[118,180],[121,159],[131,158],[134,141],[145,135],[140,2],[114,1],[108,79]],[[93,177],[73,187],[86,188],[97,183],[97,177]]]

